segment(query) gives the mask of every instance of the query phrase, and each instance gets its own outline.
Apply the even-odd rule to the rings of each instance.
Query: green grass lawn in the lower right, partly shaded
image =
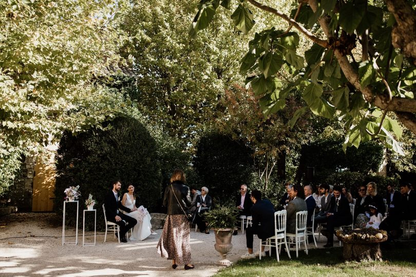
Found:
[[[275,251],[272,248],[272,251]],[[240,260],[215,276],[416,276],[416,242],[403,241],[382,246],[383,262],[344,262],[343,248],[291,251],[289,260],[281,251],[280,263],[276,257]]]

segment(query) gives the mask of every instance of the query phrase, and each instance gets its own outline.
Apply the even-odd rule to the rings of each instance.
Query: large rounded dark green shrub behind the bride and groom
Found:
[[[97,201],[94,208],[100,226],[104,196],[112,189],[112,181],[118,179],[121,196],[131,182],[140,196],[139,203],[149,212],[157,208],[162,177],[154,138],[135,118],[119,117],[110,124],[104,130],[89,130],[78,136],[64,133],[56,155],[56,212],[62,213],[65,188],[80,185],[80,210],[91,193]],[[74,217],[67,219],[71,224]]]

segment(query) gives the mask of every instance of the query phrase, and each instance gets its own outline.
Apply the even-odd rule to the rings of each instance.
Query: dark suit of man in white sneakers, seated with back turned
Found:
[[[251,207],[252,226],[247,227],[245,239],[247,248],[253,248],[253,235],[265,240],[274,235],[274,208],[267,200],[259,200]]]

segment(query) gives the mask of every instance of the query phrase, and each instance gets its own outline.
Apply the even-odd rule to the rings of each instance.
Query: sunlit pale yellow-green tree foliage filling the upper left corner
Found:
[[[111,21],[122,4],[0,0],[2,186],[13,179],[17,157],[59,141],[65,129],[86,130],[131,106],[94,85],[119,60]]]

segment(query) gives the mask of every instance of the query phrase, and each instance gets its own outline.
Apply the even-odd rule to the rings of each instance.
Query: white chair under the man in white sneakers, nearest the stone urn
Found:
[[[277,262],[280,262],[279,254],[280,254],[282,244],[285,244],[286,252],[288,252],[289,259],[292,259],[290,257],[288,243],[286,241],[286,215],[287,215],[286,210],[274,212],[274,236],[267,239],[265,244],[262,244],[262,241],[260,240],[259,253],[261,252],[261,246],[269,246],[269,256],[271,256],[272,247],[276,247]],[[272,240],[275,241],[275,245],[272,245]],[[261,260],[261,253],[259,255],[259,258]]]

